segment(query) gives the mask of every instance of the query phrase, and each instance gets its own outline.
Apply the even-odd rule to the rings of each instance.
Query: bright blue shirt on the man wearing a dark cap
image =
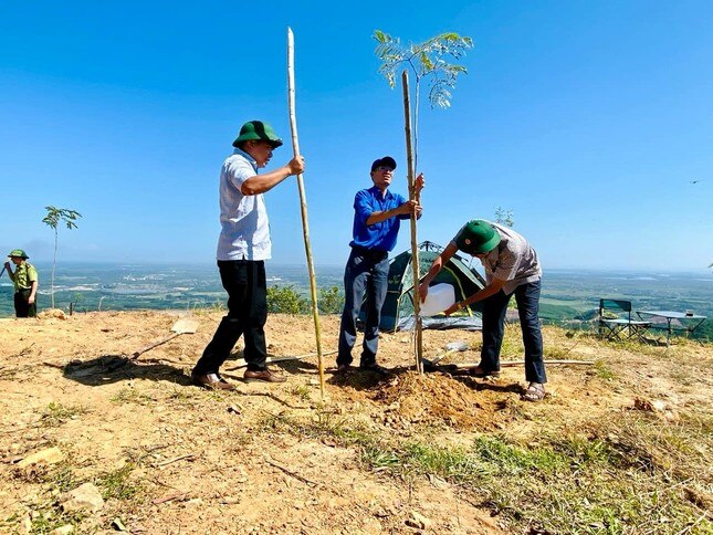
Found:
[[[396,246],[396,238],[399,233],[401,219],[410,219],[409,214],[400,214],[389,218],[386,221],[375,224],[366,224],[366,220],[374,212],[384,212],[398,208],[406,202],[406,199],[398,195],[381,191],[376,186],[358,191],[354,198],[354,240],[349,246],[371,249],[374,251],[391,251]]]

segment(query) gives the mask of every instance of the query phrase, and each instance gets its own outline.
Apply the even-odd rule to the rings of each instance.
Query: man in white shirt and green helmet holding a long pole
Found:
[[[220,171],[220,223],[218,270],[228,292],[228,315],[196,363],[193,382],[207,388],[233,390],[219,375],[220,366],[241,335],[244,335],[244,378],[283,382],[284,376],[268,369],[264,325],[268,319],[265,260],[271,258],[270,223],[263,193],[292,175],[304,171],[304,158],[296,156],[283,167],[258,175],[272,151],[282,145],[268,123],[250,120],[233,141],[235,150]]]

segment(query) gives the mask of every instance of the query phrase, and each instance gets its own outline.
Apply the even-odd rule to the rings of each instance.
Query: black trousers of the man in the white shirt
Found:
[[[217,374],[241,335],[245,336],[248,369],[265,368],[268,350],[264,326],[268,321],[265,263],[252,260],[219,260],[220,281],[228,292],[228,315],[213,339],[196,363],[193,374]]]

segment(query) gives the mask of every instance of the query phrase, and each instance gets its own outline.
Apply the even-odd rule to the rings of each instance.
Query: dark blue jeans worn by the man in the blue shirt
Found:
[[[352,250],[344,270],[344,312],[339,326],[337,366],[352,364],[352,348],[356,343],[356,322],[366,295],[366,322],[361,345],[361,366],[376,363],[379,347],[379,322],[389,279],[389,256],[386,252]]]

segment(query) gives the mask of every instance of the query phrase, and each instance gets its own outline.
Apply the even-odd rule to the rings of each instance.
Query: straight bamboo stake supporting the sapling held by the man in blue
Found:
[[[419,200],[419,193],[416,192],[413,177],[413,147],[411,146],[411,99],[409,95],[409,73],[403,71],[401,73],[401,85],[403,86],[403,117],[406,125],[406,159],[408,162],[408,182],[409,182],[409,199]],[[421,357],[423,356],[423,339],[421,337],[421,301],[418,294],[418,282],[420,279],[420,265],[418,255],[418,237],[417,237],[417,222],[416,213],[411,213],[411,268],[413,269],[413,316],[416,323],[413,325],[413,354],[416,357],[416,369],[419,374],[423,373],[423,365]]]

